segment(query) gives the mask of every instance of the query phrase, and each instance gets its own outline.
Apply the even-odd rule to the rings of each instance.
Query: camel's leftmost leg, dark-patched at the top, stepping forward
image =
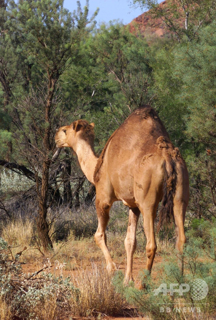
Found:
[[[96,198],[96,210],[97,210],[97,219],[98,219],[98,227],[95,234],[95,242],[99,248],[104,253],[104,257],[106,259],[106,268],[108,271],[116,270],[116,264],[113,262],[109,249],[106,245],[106,234],[105,229],[109,220],[109,211],[112,204],[107,202],[101,202]]]

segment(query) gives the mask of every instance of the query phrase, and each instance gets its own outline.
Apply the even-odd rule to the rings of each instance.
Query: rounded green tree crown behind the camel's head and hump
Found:
[[[102,24],[84,38],[79,58],[62,78],[62,90],[70,110],[95,122],[96,142],[103,147],[131,111],[151,99],[150,48],[121,24]],[[68,122],[75,119],[68,114]]]

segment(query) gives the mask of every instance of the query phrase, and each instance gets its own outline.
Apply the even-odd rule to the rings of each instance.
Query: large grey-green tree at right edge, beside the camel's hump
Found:
[[[189,168],[190,211],[208,219],[216,214],[215,31],[213,21],[196,41],[158,52],[152,66],[154,105]]]

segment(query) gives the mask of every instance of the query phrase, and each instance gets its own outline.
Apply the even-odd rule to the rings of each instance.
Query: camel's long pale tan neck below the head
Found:
[[[86,178],[94,184],[94,172],[98,158],[95,156],[91,146],[84,140],[80,141],[76,150],[79,164]]]

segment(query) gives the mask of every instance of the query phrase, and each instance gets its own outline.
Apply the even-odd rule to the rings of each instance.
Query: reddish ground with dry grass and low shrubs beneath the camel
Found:
[[[76,225],[68,230],[68,238],[53,241],[54,250],[46,256],[39,254],[37,244],[32,241],[35,235],[28,222],[20,223],[19,219],[14,224],[16,233],[9,225],[2,229],[2,236],[6,235],[7,239],[0,238],[2,319],[98,318],[105,315],[152,319],[214,318],[216,244],[215,228],[209,221],[195,219],[191,228],[186,226],[188,244],[184,252],[184,275],[178,266],[174,228],[170,228],[166,236],[160,232],[156,239],[158,251],[152,276],[144,269],[140,273],[137,270],[146,260],[143,254],[146,240],[140,223],[135,284],[125,286],[126,211],[119,205],[113,208],[114,223],[111,221],[107,231],[109,248],[118,266],[115,273],[107,272],[103,254],[91,236],[96,222],[92,221],[89,232],[82,236],[74,234],[79,224],[83,224],[83,216],[88,215],[91,219],[92,214],[91,211],[79,212]],[[29,237],[25,235],[26,228],[29,228]],[[208,295],[201,301],[192,300],[191,292],[181,297],[178,293],[154,295],[162,280],[169,288],[169,284],[189,284],[197,278],[208,284]],[[165,312],[160,312],[158,304],[159,308],[165,306]],[[167,306],[171,307],[171,312],[166,312]],[[184,311],[182,306],[186,308]]]

